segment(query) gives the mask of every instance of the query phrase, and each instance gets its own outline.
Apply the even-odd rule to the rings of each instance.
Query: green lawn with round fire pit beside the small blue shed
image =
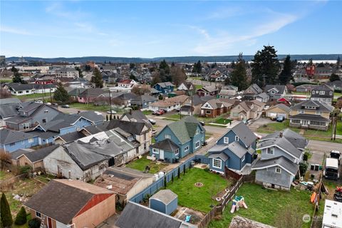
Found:
[[[175,181],[167,183],[167,189],[178,195],[178,204],[189,207],[200,212],[207,213],[212,209],[211,193],[220,192],[227,188],[230,183],[220,175],[206,172],[198,168],[186,170],[185,175],[180,179],[175,177]],[[196,187],[195,182],[201,182],[203,187]],[[216,194],[215,194],[216,195]]]

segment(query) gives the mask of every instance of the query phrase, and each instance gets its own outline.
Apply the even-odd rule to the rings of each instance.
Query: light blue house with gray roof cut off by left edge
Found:
[[[38,145],[38,136],[36,135],[6,128],[0,130],[0,148],[7,152],[36,145]]]

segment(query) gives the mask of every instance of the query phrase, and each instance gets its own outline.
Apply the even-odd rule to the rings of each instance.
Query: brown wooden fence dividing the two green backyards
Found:
[[[202,227],[207,227],[209,222],[214,219],[214,217],[217,217],[217,215],[222,214],[224,212],[224,209],[226,208],[227,204],[232,201],[234,198],[235,194],[237,193],[237,190],[241,187],[241,185],[244,184],[244,182],[254,182],[255,180],[255,175],[241,175],[239,180],[233,185],[233,187],[229,188],[229,191],[227,194],[223,197],[223,201],[212,208],[210,212],[208,212],[202,221],[198,224],[199,228]]]

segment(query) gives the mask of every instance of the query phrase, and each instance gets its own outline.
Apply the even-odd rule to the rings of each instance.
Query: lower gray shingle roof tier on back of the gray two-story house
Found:
[[[260,170],[266,167],[275,167],[277,165],[284,167],[284,169],[288,170],[293,175],[296,175],[296,172],[299,169],[299,165],[295,164],[294,162],[291,162],[289,159],[287,159],[284,156],[280,156],[280,157],[274,157],[271,159],[258,160],[252,166],[252,170]]]

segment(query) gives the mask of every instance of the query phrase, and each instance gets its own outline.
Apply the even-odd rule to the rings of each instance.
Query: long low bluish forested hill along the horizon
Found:
[[[316,61],[336,60],[342,54],[312,54],[312,55],[291,55],[291,59],[309,60],[312,58]],[[175,63],[195,63],[202,62],[231,62],[236,61],[238,56],[180,56],[180,57],[157,57],[157,58],[125,58],[125,57],[107,57],[107,56],[87,56],[87,57],[73,57],[73,58],[39,58],[39,57],[24,57],[26,61],[43,61],[47,63],[66,62],[66,63],[86,63],[87,61],[94,61],[95,63],[149,63],[160,62],[163,59],[167,62]],[[254,56],[244,56],[244,60],[251,61]],[[278,58],[285,58],[286,55],[279,55]],[[9,57],[6,61],[18,61],[19,57]]]

